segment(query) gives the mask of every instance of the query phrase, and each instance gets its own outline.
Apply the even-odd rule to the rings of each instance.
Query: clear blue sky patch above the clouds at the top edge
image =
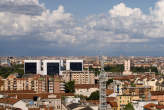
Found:
[[[63,5],[65,10],[73,13],[76,17],[86,17],[92,14],[106,13],[114,5],[125,3],[131,8],[141,8],[144,13],[149,13],[157,0],[40,0],[51,10]]]

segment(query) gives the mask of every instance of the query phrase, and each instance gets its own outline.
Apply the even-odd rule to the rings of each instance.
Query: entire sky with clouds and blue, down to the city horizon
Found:
[[[164,56],[164,0],[0,0],[0,56]]]

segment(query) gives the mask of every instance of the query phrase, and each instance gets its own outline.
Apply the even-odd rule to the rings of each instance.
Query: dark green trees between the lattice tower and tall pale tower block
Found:
[[[106,72],[123,72],[124,71],[124,65],[108,65],[104,67],[104,70]]]

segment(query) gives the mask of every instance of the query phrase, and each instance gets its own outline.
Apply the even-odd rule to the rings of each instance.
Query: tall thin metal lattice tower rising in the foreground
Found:
[[[101,72],[99,75],[99,110],[107,110],[107,102],[106,102],[106,73],[104,71],[104,59],[101,57]]]

